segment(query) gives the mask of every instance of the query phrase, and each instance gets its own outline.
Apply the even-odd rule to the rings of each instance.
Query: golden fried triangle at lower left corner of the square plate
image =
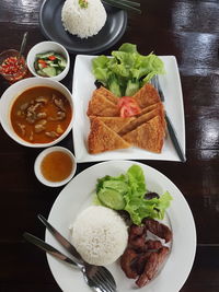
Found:
[[[96,154],[105,151],[129,148],[130,144],[126,142],[116,132],[111,130],[99,118],[91,121],[91,131],[88,138],[89,153]]]

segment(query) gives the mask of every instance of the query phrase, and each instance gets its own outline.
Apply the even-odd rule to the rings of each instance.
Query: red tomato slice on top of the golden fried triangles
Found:
[[[123,118],[132,117],[141,113],[141,109],[136,100],[129,96],[120,97],[118,107],[120,109],[120,117]]]

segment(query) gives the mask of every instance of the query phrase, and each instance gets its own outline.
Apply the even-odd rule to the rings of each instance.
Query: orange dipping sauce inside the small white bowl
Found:
[[[48,153],[42,161],[41,171],[43,176],[50,182],[61,182],[69,177],[73,170],[73,162],[68,153],[54,151]]]

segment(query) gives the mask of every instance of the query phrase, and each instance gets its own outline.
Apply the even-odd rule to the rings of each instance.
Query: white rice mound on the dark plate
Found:
[[[66,31],[81,38],[96,35],[106,22],[106,11],[101,0],[87,0],[88,8],[81,8],[79,0],[66,0],[61,21]]]

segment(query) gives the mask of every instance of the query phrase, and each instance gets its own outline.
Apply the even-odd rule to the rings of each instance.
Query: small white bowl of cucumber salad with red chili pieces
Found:
[[[26,62],[33,75],[56,81],[61,81],[70,68],[67,49],[56,42],[42,42],[32,47]]]

